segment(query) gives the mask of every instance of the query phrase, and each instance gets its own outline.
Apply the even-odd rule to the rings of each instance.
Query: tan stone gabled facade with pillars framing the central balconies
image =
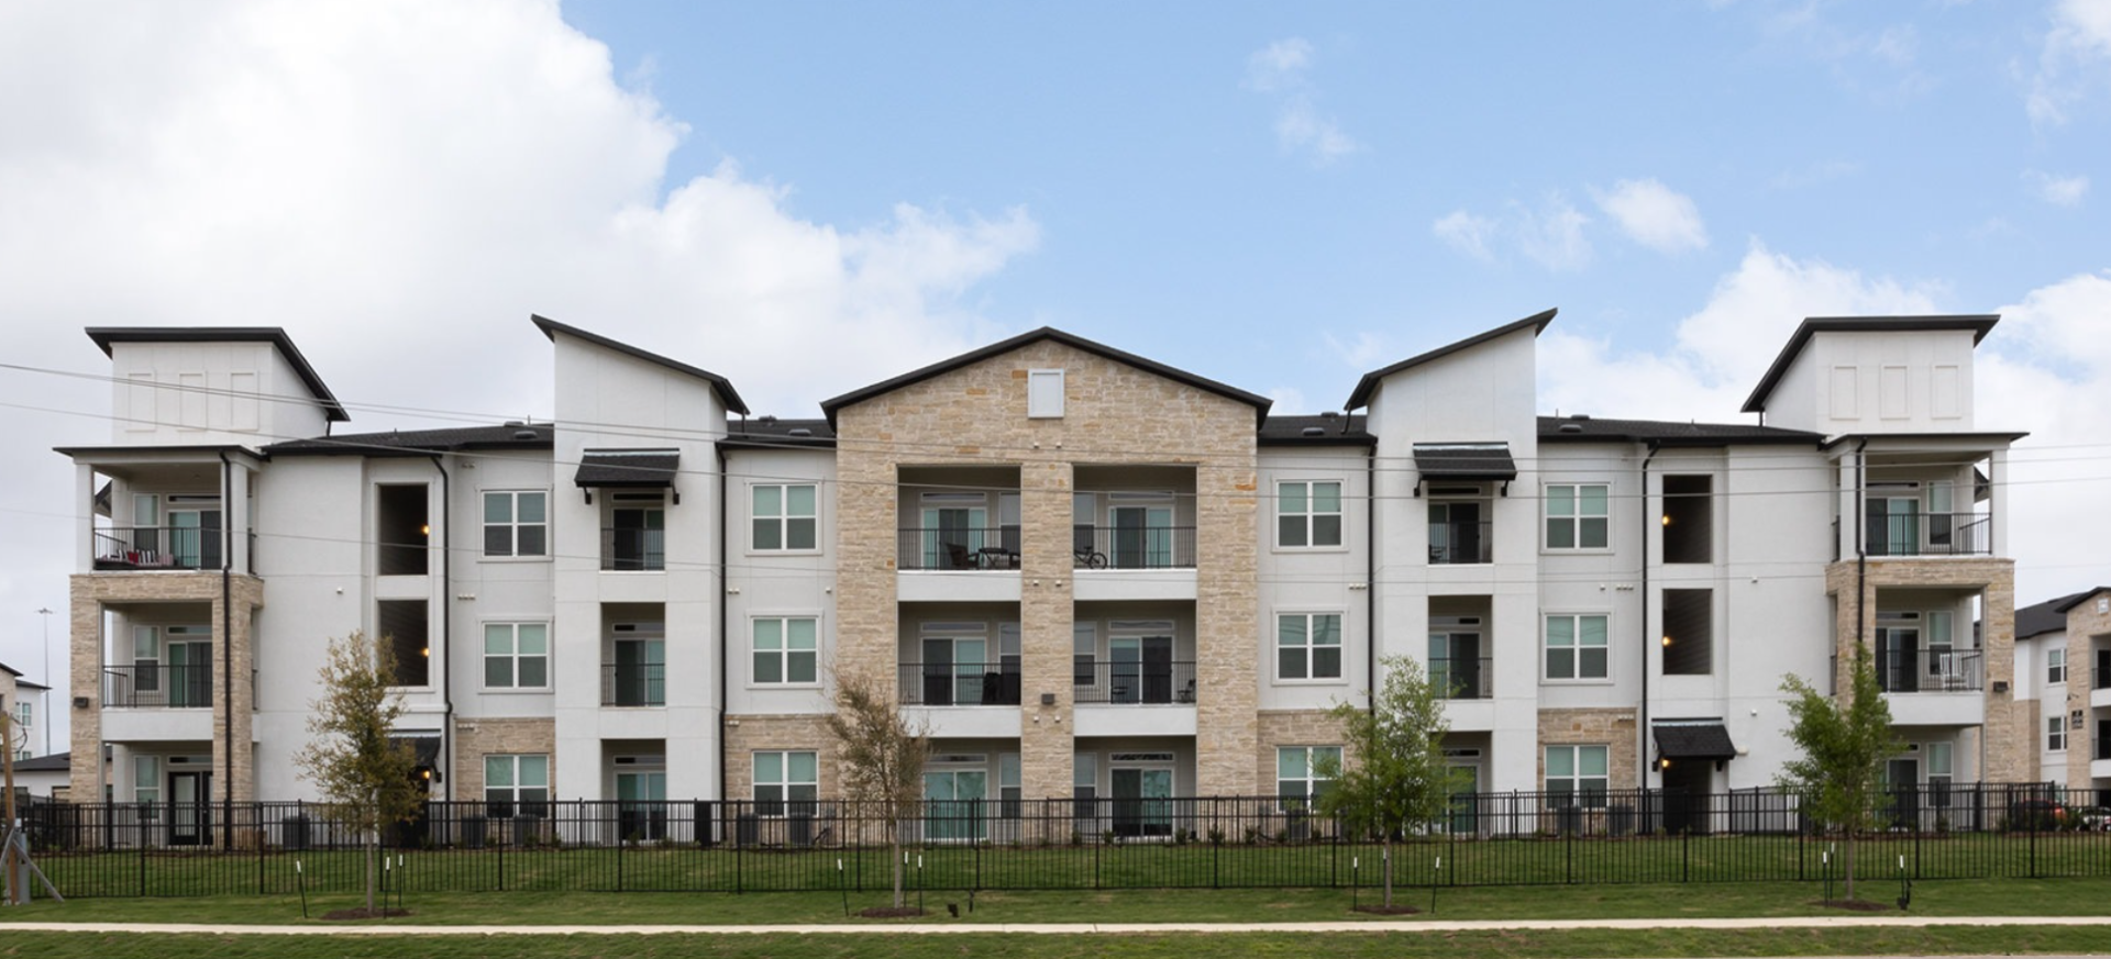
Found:
[[[1028,419],[1032,369],[1062,369],[1064,415]],[[1239,795],[1254,780],[1258,466],[1252,405],[1053,339],[984,358],[836,413],[836,658],[893,674],[897,649],[895,485],[904,466],[1020,468],[1020,651],[1026,797],[1072,784],[1070,653],[1077,466],[1195,468],[1195,788]],[[1041,704],[1041,693],[1056,696]],[[1041,721],[1045,719],[1045,721]],[[728,782],[728,795],[730,792]]]

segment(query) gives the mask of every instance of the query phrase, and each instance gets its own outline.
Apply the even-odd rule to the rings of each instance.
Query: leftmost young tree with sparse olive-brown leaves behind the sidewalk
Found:
[[[310,702],[308,746],[293,757],[302,778],[315,782],[329,816],[353,826],[367,847],[367,913],[374,913],[376,864],[382,828],[418,814],[412,784],[418,759],[407,742],[391,740],[403,715],[395,681],[395,653],[363,632],[331,639],[317,670],[323,698]]]

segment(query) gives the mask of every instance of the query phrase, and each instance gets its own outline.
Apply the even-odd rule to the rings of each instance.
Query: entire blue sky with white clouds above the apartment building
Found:
[[[1805,316],[1999,312],[2035,603],[2111,584],[2107,194],[2111,0],[11,0],[0,662],[63,670],[95,325],[285,327],[365,432],[547,419],[532,312],[811,417],[1043,325],[1317,413],[1560,308],[1543,413],[1701,422]]]

